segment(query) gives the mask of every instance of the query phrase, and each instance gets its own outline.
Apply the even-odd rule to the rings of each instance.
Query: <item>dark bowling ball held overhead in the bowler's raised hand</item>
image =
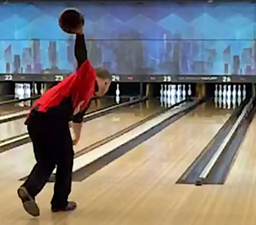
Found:
[[[66,9],[59,17],[59,26],[68,34],[74,34],[74,30],[84,26],[84,18],[82,13],[77,9]]]

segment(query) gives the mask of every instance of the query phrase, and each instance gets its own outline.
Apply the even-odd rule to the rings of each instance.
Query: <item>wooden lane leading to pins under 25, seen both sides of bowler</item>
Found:
[[[136,104],[132,107],[121,107],[103,117],[88,121],[83,125],[82,136],[74,150],[77,152],[93,142],[100,141],[159,109],[160,103],[158,100],[147,101],[147,103]],[[31,142],[1,153],[0,174],[2,173],[5,179],[0,180],[0,186],[7,180],[18,180],[25,177],[34,163]]]

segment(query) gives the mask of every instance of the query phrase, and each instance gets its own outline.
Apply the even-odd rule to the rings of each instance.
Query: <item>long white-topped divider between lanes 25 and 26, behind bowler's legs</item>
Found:
[[[189,100],[187,103],[180,103],[176,107],[173,106],[172,109],[145,122],[131,130],[131,132],[125,133],[99,146],[99,148],[75,158],[72,180],[82,181],[85,177],[89,177],[108,163],[123,156],[123,154],[129,152],[135,148],[135,146],[159,133],[162,129],[165,129],[182,116],[185,116],[185,114],[191,112],[194,108],[198,107],[198,105],[204,103],[204,101],[204,99],[199,101]],[[54,173],[56,173],[56,170],[54,170]],[[51,175],[48,182],[55,181],[54,173]],[[19,179],[19,181],[24,181],[26,178],[27,176]]]

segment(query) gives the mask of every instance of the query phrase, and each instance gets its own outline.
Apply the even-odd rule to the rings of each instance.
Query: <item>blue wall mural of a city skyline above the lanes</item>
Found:
[[[70,3],[69,3],[70,4]],[[94,66],[119,74],[256,74],[256,6],[74,3],[86,18]],[[65,3],[0,6],[0,72],[75,68]]]

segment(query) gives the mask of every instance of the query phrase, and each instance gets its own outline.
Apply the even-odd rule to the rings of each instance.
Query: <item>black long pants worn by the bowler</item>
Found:
[[[71,192],[74,150],[67,123],[57,122],[58,117],[33,111],[27,121],[36,164],[23,184],[31,197],[43,189],[56,168],[53,207],[66,207]]]

